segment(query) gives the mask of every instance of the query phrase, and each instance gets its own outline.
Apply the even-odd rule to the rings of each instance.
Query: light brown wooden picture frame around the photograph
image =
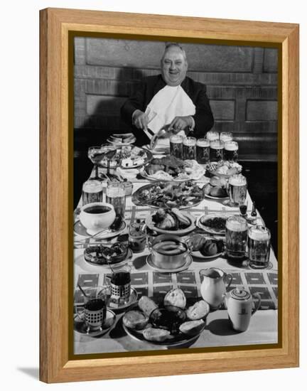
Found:
[[[110,36],[204,39],[279,48],[280,343],[274,348],[70,360],[68,277],[72,249],[72,141],[68,49],[72,31]],[[41,11],[40,379],[43,382],[255,370],[298,366],[298,25],[181,16]],[[282,241],[281,241],[282,237]],[[170,352],[168,352],[170,353]]]

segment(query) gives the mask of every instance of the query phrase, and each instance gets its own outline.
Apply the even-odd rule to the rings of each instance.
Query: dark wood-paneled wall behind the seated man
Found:
[[[75,38],[75,150],[129,130],[119,117],[141,77],[160,73],[165,43]],[[246,160],[276,161],[277,50],[183,43],[188,75],[207,85],[215,129]]]

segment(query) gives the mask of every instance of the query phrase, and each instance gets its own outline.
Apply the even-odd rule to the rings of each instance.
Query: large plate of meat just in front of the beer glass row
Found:
[[[166,155],[151,159],[140,174],[149,181],[198,181],[205,174],[205,168],[195,160],[182,160]]]

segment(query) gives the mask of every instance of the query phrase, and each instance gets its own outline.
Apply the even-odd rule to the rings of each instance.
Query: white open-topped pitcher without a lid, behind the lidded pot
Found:
[[[200,294],[212,309],[217,309],[222,304],[227,288],[232,282],[232,275],[214,267],[201,269],[199,273],[203,276]]]

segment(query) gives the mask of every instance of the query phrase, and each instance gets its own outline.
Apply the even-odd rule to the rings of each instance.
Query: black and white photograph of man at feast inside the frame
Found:
[[[73,352],[279,342],[279,50],[75,36]]]

